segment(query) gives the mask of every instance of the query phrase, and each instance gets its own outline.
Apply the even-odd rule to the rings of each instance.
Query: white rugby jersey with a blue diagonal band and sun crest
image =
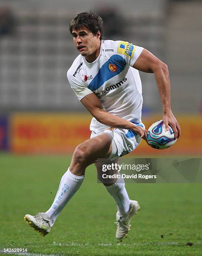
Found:
[[[92,63],[88,63],[80,54],[67,72],[68,81],[78,100],[95,93],[107,112],[140,123],[141,80],[138,70],[132,66],[142,50],[142,47],[125,41],[104,40],[98,58]],[[92,119],[91,131],[100,133],[107,128],[109,126]],[[126,131],[123,129],[124,133]]]

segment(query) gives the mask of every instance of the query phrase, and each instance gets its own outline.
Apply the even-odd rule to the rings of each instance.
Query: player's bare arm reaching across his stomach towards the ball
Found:
[[[102,108],[100,100],[94,93],[88,94],[86,97],[84,97],[81,100],[81,103],[87,108],[91,115],[98,120],[98,122],[114,128],[132,130],[138,133],[141,138],[146,140],[146,130],[144,128],[106,112]]]

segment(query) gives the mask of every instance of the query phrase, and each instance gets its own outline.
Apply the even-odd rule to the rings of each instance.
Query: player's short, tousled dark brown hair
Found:
[[[69,31],[72,33],[73,29],[87,28],[96,35],[100,31],[100,40],[103,37],[103,20],[100,16],[91,11],[77,14],[69,24]]]

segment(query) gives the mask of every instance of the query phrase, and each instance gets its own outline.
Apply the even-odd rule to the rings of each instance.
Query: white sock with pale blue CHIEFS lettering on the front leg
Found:
[[[60,214],[61,210],[63,210],[67,202],[81,187],[83,179],[84,175],[76,176],[70,172],[69,168],[67,172],[63,175],[53,204],[51,205],[51,208],[47,212],[45,212],[51,219],[52,225],[56,221],[56,218]]]

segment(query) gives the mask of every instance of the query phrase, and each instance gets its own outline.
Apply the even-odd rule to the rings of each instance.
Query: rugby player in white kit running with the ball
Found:
[[[131,218],[140,209],[130,200],[124,179],[102,179],[102,165],[119,163],[119,158],[133,151],[146,130],[141,122],[142,90],[139,70],[154,73],[162,101],[163,120],[174,130],[180,127],[170,105],[168,67],[146,49],[126,41],[103,40],[103,20],[92,12],[76,15],[69,25],[73,43],[79,51],[67,72],[78,100],[93,116],[91,138],[78,145],[71,164],[61,178],[50,209],[37,215],[25,215],[28,224],[44,236],[48,234],[61,210],[80,188],[88,165],[94,163],[98,179],[117,205],[116,238],[126,236]],[[110,173],[110,172],[109,172]]]

